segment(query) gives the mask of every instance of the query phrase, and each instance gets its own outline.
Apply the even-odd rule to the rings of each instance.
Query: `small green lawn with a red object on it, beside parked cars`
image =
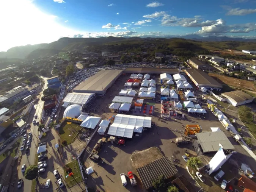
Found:
[[[74,173],[73,176],[68,176],[68,178],[66,178],[66,175],[68,175],[68,173],[66,173],[66,167],[72,169],[72,173]],[[66,167],[63,167],[64,173],[65,173],[65,175],[63,176],[65,177],[65,181],[69,187],[83,180],[77,160],[66,164]]]

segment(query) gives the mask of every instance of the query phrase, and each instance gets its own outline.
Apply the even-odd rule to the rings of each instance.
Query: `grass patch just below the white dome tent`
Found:
[[[67,145],[72,143],[73,138],[76,136],[78,131],[81,129],[77,124],[67,124],[66,122],[59,128],[59,134],[62,140],[66,140]]]

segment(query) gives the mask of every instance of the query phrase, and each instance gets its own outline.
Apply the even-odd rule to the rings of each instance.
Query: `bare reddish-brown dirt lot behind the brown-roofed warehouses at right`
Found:
[[[256,88],[254,87],[254,84],[251,81],[241,80],[225,75],[218,75],[216,73],[209,73],[208,75],[212,76],[219,83],[225,83],[229,86],[237,87],[240,89],[250,89],[251,91],[256,91]]]

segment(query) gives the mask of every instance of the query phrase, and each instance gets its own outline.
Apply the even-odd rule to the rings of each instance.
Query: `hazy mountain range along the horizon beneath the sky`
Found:
[[[94,45],[94,44],[104,44],[108,42],[118,42],[122,40],[131,40],[131,41],[143,41],[145,40],[154,40],[154,39],[170,39],[177,38],[174,36],[169,37],[100,37],[100,38],[69,38],[63,37],[58,41],[51,42],[49,44],[36,44],[36,45],[25,45],[19,47],[12,47],[7,52],[0,52],[0,58],[18,58],[18,59],[36,59],[44,56],[53,56],[58,54],[59,52],[71,51],[74,49],[83,49],[86,46]],[[229,42],[256,42],[256,39],[243,39],[243,38],[231,38],[231,37],[217,37],[217,36],[209,36],[209,37],[201,37],[196,34],[189,34],[185,36],[179,36],[179,38],[190,39],[194,41],[201,42],[220,42],[220,41],[229,41]],[[244,44],[243,44],[244,46]],[[250,46],[251,47],[251,46]]]

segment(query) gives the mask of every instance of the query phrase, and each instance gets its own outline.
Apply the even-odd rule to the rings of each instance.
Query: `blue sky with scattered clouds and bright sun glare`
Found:
[[[256,0],[0,0],[0,51],[61,37],[256,39]]]

